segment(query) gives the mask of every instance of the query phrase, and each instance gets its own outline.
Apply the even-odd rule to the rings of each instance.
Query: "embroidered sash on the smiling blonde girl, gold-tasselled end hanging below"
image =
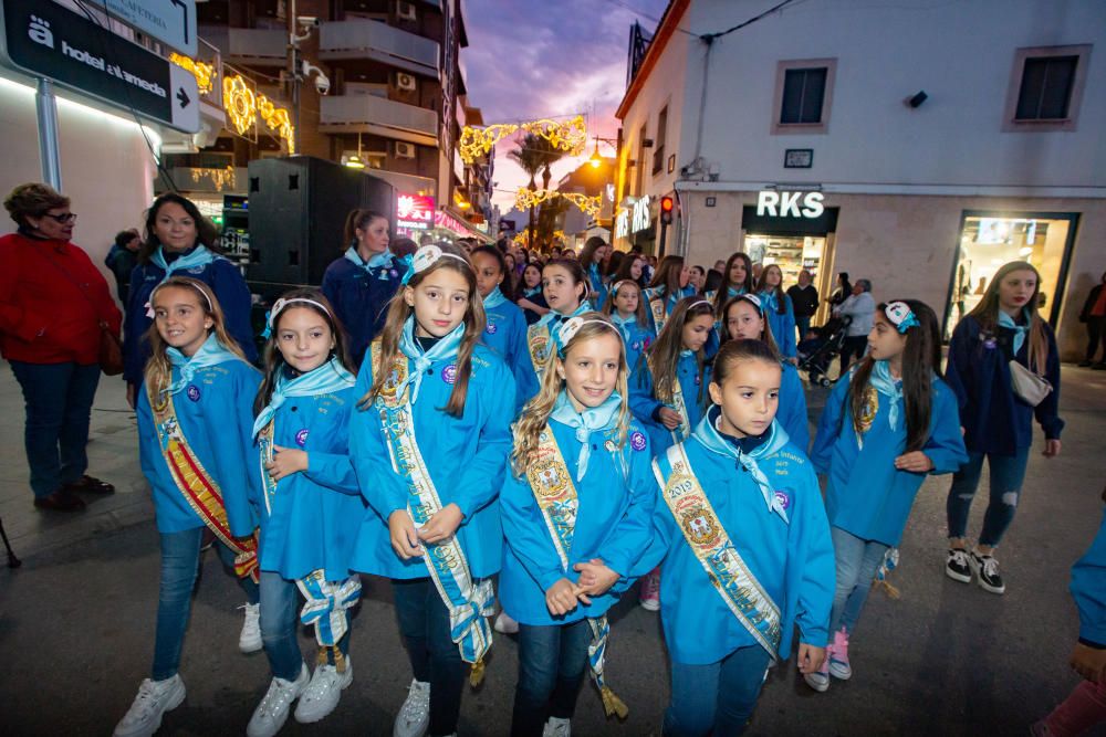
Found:
[[[545,425],[538,436],[535,456],[526,471],[526,481],[530,482],[530,488],[538,501],[538,508],[542,510],[542,518],[545,520],[550,537],[553,538],[553,547],[556,548],[557,557],[561,559],[561,568],[567,573],[568,550],[572,548],[572,538],[576,530],[576,510],[580,502],[564,455],[549,425]],[[587,623],[592,628],[592,644],[587,647],[587,660],[592,678],[603,696],[603,710],[607,717],[617,715],[619,719],[625,719],[629,709],[615,696],[603,676],[607,639],[611,636],[607,615],[588,618]]]

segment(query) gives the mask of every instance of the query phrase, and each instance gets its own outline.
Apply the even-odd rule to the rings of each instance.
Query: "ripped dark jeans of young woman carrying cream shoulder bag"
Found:
[[[968,463],[952,475],[952,486],[946,502],[949,517],[949,537],[964,537],[968,531],[968,514],[979,487],[979,477],[983,472],[983,457],[991,472],[991,498],[983,516],[983,530],[979,535],[979,544],[994,547],[1002,540],[1002,535],[1014,520],[1018,509],[1018,497],[1025,481],[1025,466],[1030,460],[1030,449],[1023,448],[1015,455],[997,455],[994,453],[968,452]]]

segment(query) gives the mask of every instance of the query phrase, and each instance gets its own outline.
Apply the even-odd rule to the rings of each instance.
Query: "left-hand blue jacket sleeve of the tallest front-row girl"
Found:
[[[372,352],[365,354],[354,397],[358,400],[373,386]],[[349,412],[349,457],[357,486],[371,507],[387,522],[396,509],[407,508],[407,487],[392,464],[392,453],[385,444],[380,420],[372,408],[354,407]]]

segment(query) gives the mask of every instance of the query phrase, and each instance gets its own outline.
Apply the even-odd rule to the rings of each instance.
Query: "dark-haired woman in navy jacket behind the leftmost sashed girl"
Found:
[[[150,297],[170,276],[196,278],[215,293],[222,308],[230,343],[237,343],[247,360],[258,359],[250,326],[251,298],[246,280],[232,262],[220,255],[219,232],[196,204],[169,192],[154,200],[146,212],[146,232],[138,265],[131,275],[123,325],[123,379],[127,401],[135,407],[143,367],[150,355],[146,331],[153,323]]]

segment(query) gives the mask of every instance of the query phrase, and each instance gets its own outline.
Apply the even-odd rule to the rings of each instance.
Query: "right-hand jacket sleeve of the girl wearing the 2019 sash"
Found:
[[[797,510],[796,518],[792,519],[795,527],[791,530],[803,550],[801,559],[795,561],[801,567],[795,624],[799,625],[800,642],[825,647],[830,640],[830,610],[836,589],[836,564],[830,537],[830,520],[813,473],[808,473],[805,485],[807,493],[804,495],[804,504]]]

